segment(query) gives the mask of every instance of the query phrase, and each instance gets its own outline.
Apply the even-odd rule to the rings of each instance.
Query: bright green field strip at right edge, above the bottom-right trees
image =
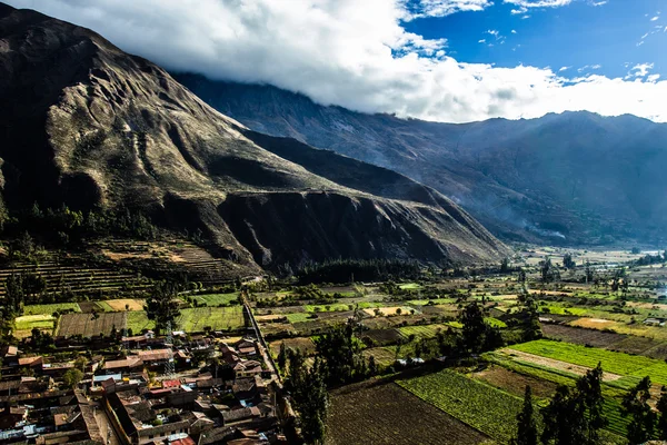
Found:
[[[544,339],[512,345],[511,349],[590,368],[601,363],[603,369],[608,373],[630,377],[648,375],[654,383],[667,385],[667,364],[639,355],[614,353],[607,349]]]

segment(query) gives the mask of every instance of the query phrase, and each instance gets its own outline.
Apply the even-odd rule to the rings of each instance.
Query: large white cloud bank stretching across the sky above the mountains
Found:
[[[9,1],[92,28],[168,69],[267,82],[359,111],[462,122],[589,110],[667,121],[666,80],[465,63],[445,53],[445,40],[404,28],[416,13],[404,0]]]

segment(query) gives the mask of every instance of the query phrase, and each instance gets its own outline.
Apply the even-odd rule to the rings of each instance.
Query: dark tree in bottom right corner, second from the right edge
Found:
[[[623,398],[621,414],[631,416],[627,438],[630,445],[647,442],[655,429],[656,415],[648,405],[650,377],[646,376]]]

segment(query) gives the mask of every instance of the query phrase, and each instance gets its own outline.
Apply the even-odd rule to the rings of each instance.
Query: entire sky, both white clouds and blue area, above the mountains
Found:
[[[667,0],[4,1],[172,71],[362,112],[667,122]]]

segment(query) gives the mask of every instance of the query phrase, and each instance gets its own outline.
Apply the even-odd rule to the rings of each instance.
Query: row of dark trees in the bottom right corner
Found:
[[[560,385],[541,409],[541,433],[535,413],[530,386],[526,386],[524,407],[517,415],[517,435],[512,445],[596,445],[608,425],[604,413],[601,364],[581,376],[574,388]],[[623,398],[621,414],[629,417],[627,439],[639,445],[657,436],[667,439],[667,389],[663,387],[657,413],[649,405],[650,377],[644,377]]]

